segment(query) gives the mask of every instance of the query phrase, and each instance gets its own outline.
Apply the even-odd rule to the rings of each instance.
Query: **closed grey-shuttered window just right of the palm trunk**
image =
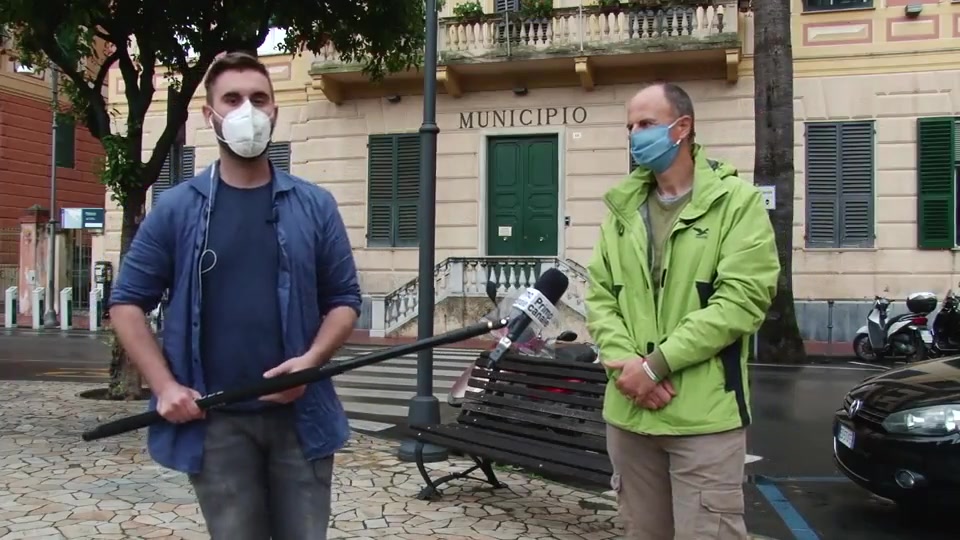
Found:
[[[873,121],[806,128],[807,247],[873,247]]]

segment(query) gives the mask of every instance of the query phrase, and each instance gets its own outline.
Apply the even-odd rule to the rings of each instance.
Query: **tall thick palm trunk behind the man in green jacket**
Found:
[[[806,360],[793,300],[793,47],[789,2],[753,2],[756,162],[758,185],[776,189],[770,219],[781,273],[777,296],[760,328],[757,356],[763,362]]]

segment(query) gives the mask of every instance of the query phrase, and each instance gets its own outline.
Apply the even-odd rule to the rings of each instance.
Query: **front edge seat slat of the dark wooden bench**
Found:
[[[467,444],[478,444],[504,450],[517,456],[536,458],[575,469],[613,474],[610,458],[606,454],[595,454],[583,450],[571,451],[555,444],[532,441],[525,437],[467,426],[438,425],[422,426],[419,429]]]

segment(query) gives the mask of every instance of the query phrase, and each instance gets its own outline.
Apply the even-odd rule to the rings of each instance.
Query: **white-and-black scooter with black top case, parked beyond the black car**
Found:
[[[928,355],[933,335],[927,327],[927,315],[937,308],[933,293],[913,293],[907,297],[907,313],[888,316],[890,300],[875,296],[873,308],[867,314],[867,324],[857,330],[853,352],[864,362],[876,362],[887,357],[902,357],[907,362],[918,362]]]

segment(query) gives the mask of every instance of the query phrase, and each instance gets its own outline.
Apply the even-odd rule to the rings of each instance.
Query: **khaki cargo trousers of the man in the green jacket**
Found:
[[[746,540],[743,429],[639,435],[607,426],[613,489],[629,540]]]

